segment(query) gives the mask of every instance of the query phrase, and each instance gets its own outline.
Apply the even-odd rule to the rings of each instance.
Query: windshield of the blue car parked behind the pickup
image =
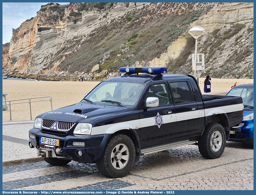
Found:
[[[231,91],[227,94],[229,96],[241,96],[243,99],[243,104],[248,106],[253,106],[253,88],[239,88],[234,87]]]

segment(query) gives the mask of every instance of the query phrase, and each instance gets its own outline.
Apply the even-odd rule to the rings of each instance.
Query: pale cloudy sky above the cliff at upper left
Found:
[[[41,5],[48,3],[3,3],[3,44],[10,42],[13,29],[19,28],[21,23],[27,19],[36,17]],[[69,3],[58,4],[65,5]]]

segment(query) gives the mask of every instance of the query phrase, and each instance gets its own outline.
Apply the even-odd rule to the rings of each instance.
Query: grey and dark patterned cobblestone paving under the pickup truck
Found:
[[[253,190],[253,149],[242,143],[228,141],[213,160],[196,145],[148,154],[129,175],[111,179],[95,164],[40,161],[28,147],[32,127],[33,121],[3,123],[3,190]]]

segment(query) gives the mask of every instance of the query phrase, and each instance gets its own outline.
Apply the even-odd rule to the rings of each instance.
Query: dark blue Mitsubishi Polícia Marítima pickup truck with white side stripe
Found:
[[[195,77],[164,67],[120,71],[81,102],[38,115],[30,148],[51,165],[96,163],[111,178],[127,175],[141,155],[183,145],[197,144],[208,159],[222,155],[243,119],[242,97],[202,95]]]

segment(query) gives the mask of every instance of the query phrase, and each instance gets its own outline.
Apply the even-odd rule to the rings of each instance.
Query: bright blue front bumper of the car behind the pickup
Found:
[[[241,128],[241,131],[233,132],[231,130],[228,141],[235,141],[235,142],[241,142],[241,143],[252,143],[252,141],[253,141],[253,119],[252,120],[243,120],[242,123],[240,123],[238,127]],[[236,128],[236,127],[234,127],[234,128]]]

